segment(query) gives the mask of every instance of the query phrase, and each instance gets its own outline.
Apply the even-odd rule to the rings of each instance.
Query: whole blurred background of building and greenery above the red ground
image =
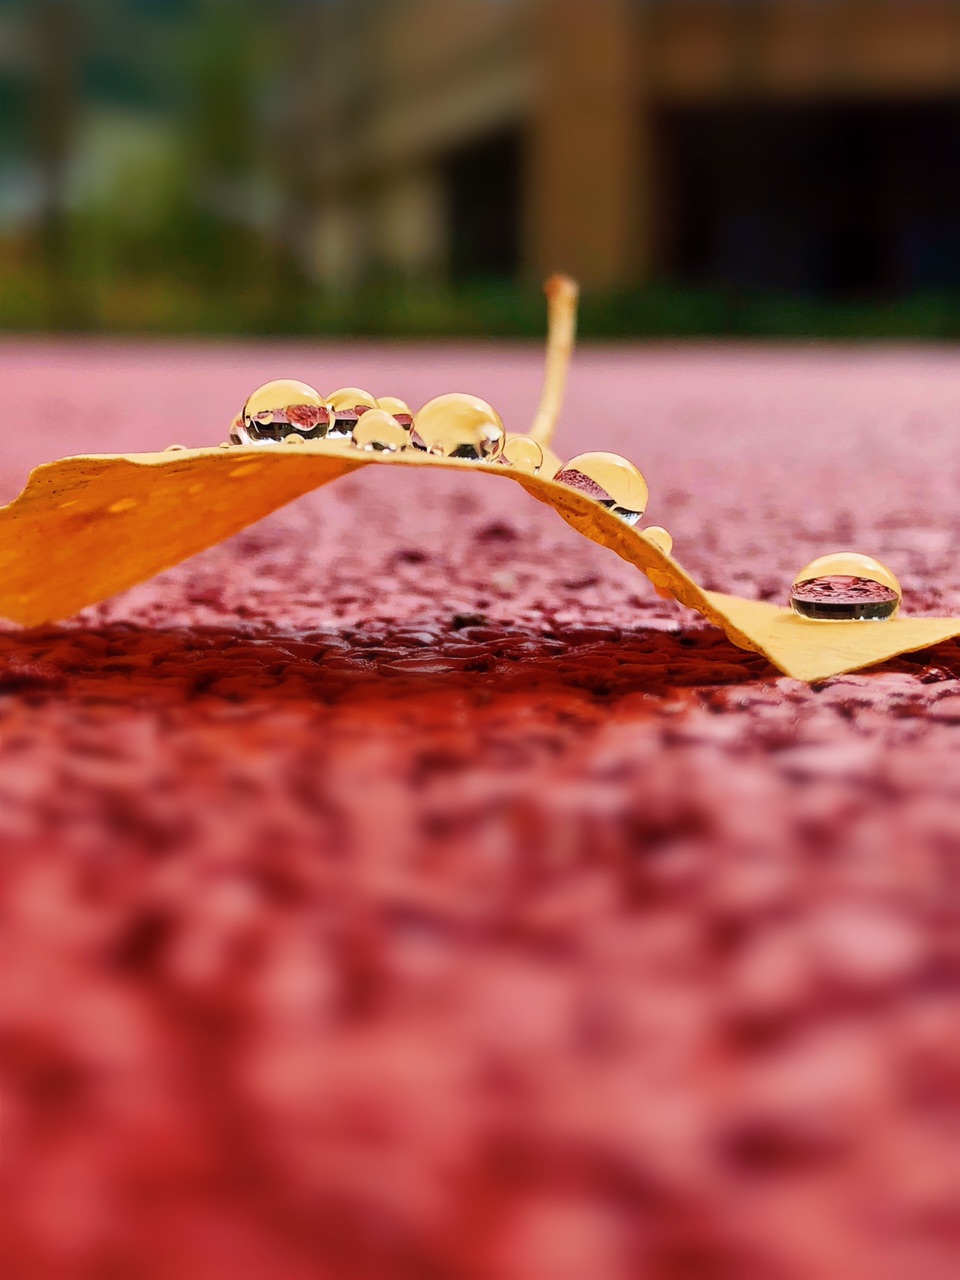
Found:
[[[0,328],[960,334],[960,0],[0,0]]]

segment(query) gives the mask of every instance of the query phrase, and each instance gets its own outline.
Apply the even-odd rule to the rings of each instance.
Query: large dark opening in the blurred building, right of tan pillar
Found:
[[[676,109],[660,265],[835,297],[960,289],[960,102]]]

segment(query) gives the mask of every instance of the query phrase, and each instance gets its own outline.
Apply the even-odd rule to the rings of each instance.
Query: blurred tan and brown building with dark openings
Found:
[[[303,81],[330,283],[960,285],[959,0],[339,0],[310,22],[337,51]]]

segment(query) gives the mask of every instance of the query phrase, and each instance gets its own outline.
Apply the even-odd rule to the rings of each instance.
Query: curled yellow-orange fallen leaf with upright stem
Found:
[[[570,282],[550,282],[552,307],[572,310]],[[556,317],[554,317],[556,319]],[[499,463],[407,451],[366,453],[340,442],[178,449],[61,458],[37,467],[0,508],[0,614],[24,626],[65,618],[142,582],[294,498],[367,466],[435,467],[521,485],[585,538],[641,570],[660,591],[696,609],[745,649],[800,680],[823,680],[960,635],[960,618],[814,622],[790,609],[707,591],[643,530],[550,476],[549,439],[572,332],[552,326],[548,385],[531,436],[545,465],[527,475]],[[559,357],[558,358],[558,352]],[[544,410],[545,406],[545,410]]]

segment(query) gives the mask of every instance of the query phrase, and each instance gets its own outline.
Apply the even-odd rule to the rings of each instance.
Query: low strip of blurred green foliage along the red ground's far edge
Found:
[[[242,236],[243,232],[238,232]],[[175,225],[168,261],[137,259],[133,233],[104,260],[83,260],[69,289],[24,255],[0,256],[0,330],[74,330],[136,334],[292,334],[371,338],[541,339],[543,297],[530,284],[463,288],[369,285],[330,294],[291,273],[288,264],[257,251],[246,270],[225,270],[227,251],[204,268],[193,253],[204,236],[221,230]],[[90,239],[84,239],[88,246]],[[145,243],[152,243],[150,238]],[[221,246],[223,248],[223,246]],[[257,256],[259,252],[259,256]],[[809,298],[658,285],[622,294],[586,294],[584,339],[908,339],[960,338],[960,298],[923,294],[878,303],[828,303]]]

